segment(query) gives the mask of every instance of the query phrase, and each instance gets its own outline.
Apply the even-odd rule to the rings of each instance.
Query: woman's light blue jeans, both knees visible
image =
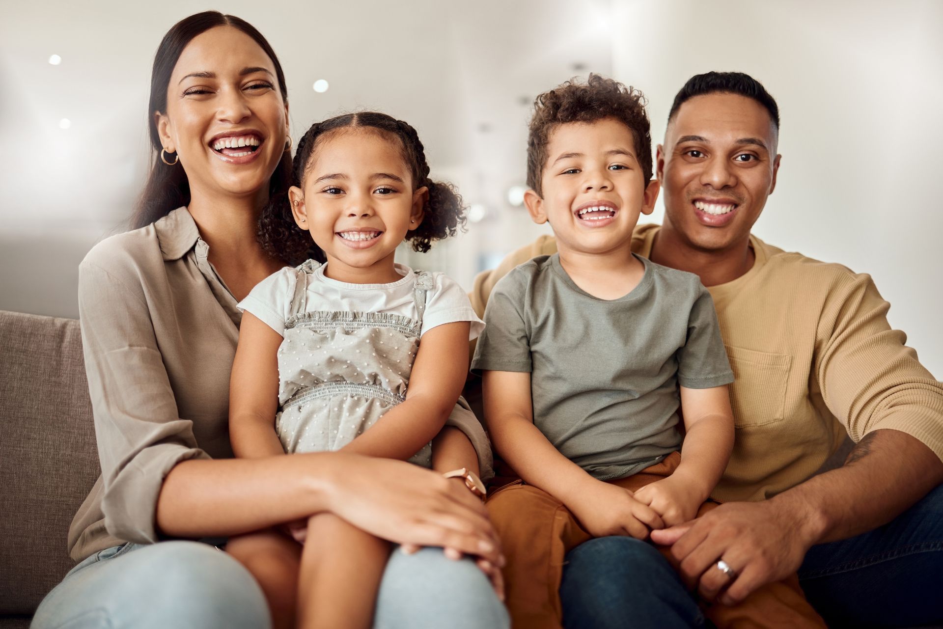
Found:
[[[262,590],[230,555],[194,541],[124,544],[91,555],[46,595],[32,629],[266,629]],[[471,560],[441,549],[390,555],[375,629],[507,629]]]

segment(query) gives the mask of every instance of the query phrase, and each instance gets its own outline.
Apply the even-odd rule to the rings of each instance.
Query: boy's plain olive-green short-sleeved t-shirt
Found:
[[[495,286],[472,361],[473,372],[531,372],[534,423],[600,480],[680,449],[679,385],[734,381],[698,276],[638,259],[638,286],[611,301],[576,286],[557,254],[521,264]]]

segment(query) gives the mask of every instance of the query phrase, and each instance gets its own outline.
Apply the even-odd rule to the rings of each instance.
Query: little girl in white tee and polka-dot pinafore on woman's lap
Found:
[[[484,496],[471,441],[443,430],[465,383],[468,341],[483,323],[452,279],[393,259],[404,240],[424,252],[464,220],[460,197],[428,174],[415,129],[382,113],[314,124],[298,142],[288,198],[274,198],[267,212],[290,204],[326,262],[274,273],[240,303],[230,390],[237,456],[340,450],[408,459],[452,470],[450,482]],[[280,240],[297,246],[291,234]],[[389,543],[331,514],[287,528],[304,540],[300,564],[286,531],[234,538],[227,550],[270,601],[297,592],[299,626],[370,626]],[[478,564],[500,578],[497,567]]]

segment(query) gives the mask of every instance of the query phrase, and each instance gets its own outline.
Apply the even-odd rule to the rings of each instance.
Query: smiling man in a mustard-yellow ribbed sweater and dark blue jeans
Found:
[[[653,541],[670,545],[688,585],[721,604],[798,570],[830,623],[943,620],[943,386],[890,329],[889,305],[868,275],[751,235],[775,188],[778,134],[778,108],[763,86],[746,74],[709,73],[677,94],[657,148],[665,222],[637,228],[634,249],[697,273],[710,290],[736,374],[737,430],[713,494],[726,504],[653,531]],[[504,273],[554,251],[541,237],[480,275],[479,314]],[[844,466],[814,475],[846,434],[857,445]],[[593,550],[571,552],[567,571],[608,570],[588,567],[583,553]],[[619,561],[611,548],[592,556]],[[565,574],[564,605],[589,609],[630,578],[600,579],[598,590],[570,596]]]

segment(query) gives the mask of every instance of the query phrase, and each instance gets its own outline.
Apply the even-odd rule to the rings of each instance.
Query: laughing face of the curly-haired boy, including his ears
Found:
[[[639,214],[651,214],[658,182],[645,181],[635,135],[614,118],[560,124],[550,134],[543,197],[524,202],[535,223],[549,222],[561,253],[628,248]]]

